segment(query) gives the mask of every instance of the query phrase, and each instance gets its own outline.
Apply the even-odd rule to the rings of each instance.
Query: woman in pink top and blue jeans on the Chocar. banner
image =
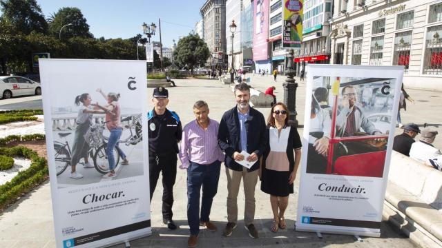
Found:
[[[108,172],[108,174],[104,175],[104,178],[113,178],[115,177],[115,167],[117,166],[115,165],[115,158],[113,156],[113,149],[115,147],[117,148],[119,156],[123,158],[122,165],[128,165],[129,163],[126,158],[126,154],[124,154],[122,149],[119,149],[118,147],[118,141],[123,132],[123,127],[120,123],[121,110],[118,103],[119,94],[110,92],[106,95],[104,94],[102,89],[97,89],[97,92],[102,94],[102,96],[108,102],[106,106],[101,106],[98,103],[96,104],[96,106],[106,112],[106,127],[111,132],[111,135],[109,136],[108,147],[106,149],[110,171]]]

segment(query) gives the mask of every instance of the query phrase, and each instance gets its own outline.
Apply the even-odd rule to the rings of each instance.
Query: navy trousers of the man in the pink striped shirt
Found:
[[[187,168],[187,221],[191,235],[200,232],[200,221],[209,221],[213,197],[218,189],[221,162],[210,165],[193,163]],[[202,186],[201,215],[200,191]]]

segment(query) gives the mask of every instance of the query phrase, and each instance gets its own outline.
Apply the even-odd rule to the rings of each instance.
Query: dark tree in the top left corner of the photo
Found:
[[[48,30],[48,23],[36,0],[0,0],[0,8],[3,12],[0,21],[14,25],[18,32],[46,33]]]

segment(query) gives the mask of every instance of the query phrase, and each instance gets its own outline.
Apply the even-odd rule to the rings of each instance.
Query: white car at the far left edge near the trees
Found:
[[[26,95],[41,95],[41,84],[23,76],[0,76],[0,99]]]

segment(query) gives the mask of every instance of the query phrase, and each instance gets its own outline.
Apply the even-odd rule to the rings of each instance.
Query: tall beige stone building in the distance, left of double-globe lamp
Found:
[[[226,50],[226,0],[207,0],[200,13],[203,21],[204,41],[211,53],[209,64],[218,65],[219,52]]]

